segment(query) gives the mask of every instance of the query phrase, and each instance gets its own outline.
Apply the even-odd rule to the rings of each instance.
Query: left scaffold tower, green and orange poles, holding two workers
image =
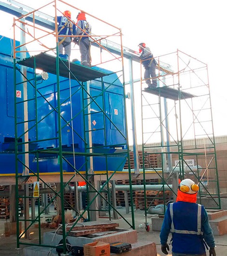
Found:
[[[107,205],[107,210],[104,209],[103,211],[108,212],[109,219],[119,214],[128,223],[129,227],[135,228],[133,204],[131,203],[132,220],[129,222],[118,212],[110,196],[110,182],[114,180],[114,174],[122,171],[127,159],[130,161],[127,119],[119,121],[117,118],[117,116],[126,116],[121,29],[83,11],[93,21],[98,21],[106,26],[108,33],[105,35],[84,35],[89,36],[92,44],[98,46],[97,49],[100,51],[99,63],[93,65],[92,68],[82,66],[79,63],[72,63],[59,58],[58,52],[57,14],[63,15],[60,11],[63,8],[79,10],[62,0],[54,0],[37,10],[22,15],[20,18],[14,18],[15,175],[18,248],[21,244],[50,247],[52,249],[57,247],[57,245],[43,244],[41,240],[42,214],[55,201],[58,202],[57,213],[62,216],[62,227],[67,225],[65,204],[77,213],[77,220],[74,222],[73,228],[84,218],[85,211],[88,212],[88,220],[96,220],[99,212],[102,211],[97,209],[98,200],[102,199],[104,204]],[[48,15],[49,20],[53,23],[53,29],[43,28],[35,22],[36,15],[45,14],[47,10],[50,14],[50,16]],[[77,26],[73,20],[71,22]],[[17,30],[21,31],[19,45],[16,44],[15,40]],[[120,57],[101,44],[102,40],[107,41],[112,38],[121,47]],[[56,46],[50,46],[54,41]],[[31,52],[35,55],[29,56]],[[103,65],[106,67],[108,64],[116,70],[104,70]],[[51,86],[45,87],[43,77],[40,79],[43,73],[38,74],[37,69],[48,72],[49,77],[55,79]],[[111,106],[113,109],[106,109],[107,92],[114,91],[113,87],[116,86],[118,77],[121,77],[123,84],[122,87],[118,86],[117,88],[119,91],[118,97],[121,97],[119,102],[123,106],[122,113],[118,113],[120,110],[117,108],[114,109],[114,104]],[[112,82],[110,82],[110,79],[112,79]],[[76,101],[78,99],[80,102]],[[43,107],[39,108],[40,102],[43,102],[43,106],[48,107],[46,112],[43,111]],[[65,115],[65,106],[69,104],[71,105],[71,114]],[[78,104],[81,104],[81,109],[78,108]],[[53,115],[56,116],[55,122],[50,125],[55,127],[54,133],[42,128],[43,123],[50,122]],[[79,121],[80,118],[81,121]],[[102,120],[103,125],[96,126],[97,119]],[[78,122],[81,124],[79,129]],[[110,139],[109,129],[112,129],[112,134],[114,134],[116,140]],[[96,142],[96,136],[101,136],[103,142]],[[66,137],[69,141],[68,144],[65,143]],[[75,143],[75,138],[77,143]],[[43,146],[40,147],[39,144]],[[79,145],[83,150],[78,150]],[[118,166],[113,168],[114,159]],[[51,161],[55,172],[43,172],[43,162],[46,160]],[[102,170],[99,170],[100,165],[103,167]],[[46,168],[49,170],[47,166]],[[131,187],[130,165],[127,173],[129,186]],[[82,212],[79,211],[77,187],[79,181],[86,182],[87,192],[87,206]],[[50,182],[57,183],[56,189],[50,185]],[[64,198],[64,191],[71,182],[74,183],[75,187],[75,206]],[[33,184],[33,196],[29,195],[28,184]],[[44,208],[41,208],[39,200],[40,184],[53,192],[49,203]],[[24,186],[23,196],[19,195],[20,185]],[[103,196],[104,191],[107,191],[107,198]],[[20,198],[25,201],[24,218],[19,216]],[[33,212],[30,218],[29,199],[34,203],[34,198],[37,198],[38,213]],[[130,189],[130,199],[132,202],[132,189]],[[19,233],[20,222],[23,222],[25,227],[22,233]],[[35,223],[39,224],[38,244],[22,241],[21,238],[24,236],[29,238],[29,228]],[[69,231],[62,228],[64,253],[67,250],[66,238],[72,228]]]

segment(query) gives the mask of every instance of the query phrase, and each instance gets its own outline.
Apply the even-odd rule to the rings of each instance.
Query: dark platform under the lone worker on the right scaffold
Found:
[[[146,90],[143,90],[143,92],[151,93],[157,96],[160,95],[161,97],[170,99],[170,100],[179,100],[179,90],[170,88],[168,86],[146,89]],[[196,96],[191,93],[180,91],[181,99],[189,99],[194,97]]]

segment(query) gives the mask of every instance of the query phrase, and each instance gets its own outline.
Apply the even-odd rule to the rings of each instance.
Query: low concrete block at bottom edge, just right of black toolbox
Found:
[[[111,254],[111,256],[157,256],[156,244],[154,242],[132,243],[132,249],[123,254]]]

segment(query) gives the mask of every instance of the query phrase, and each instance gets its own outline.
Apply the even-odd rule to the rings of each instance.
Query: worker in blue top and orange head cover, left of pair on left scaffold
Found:
[[[59,57],[64,57],[63,49],[66,57],[70,60],[71,55],[71,42],[72,37],[66,37],[75,35],[76,26],[69,19],[71,19],[71,12],[65,11],[63,16],[57,16],[57,31],[58,31],[58,53]],[[66,36],[65,36],[66,35]]]

